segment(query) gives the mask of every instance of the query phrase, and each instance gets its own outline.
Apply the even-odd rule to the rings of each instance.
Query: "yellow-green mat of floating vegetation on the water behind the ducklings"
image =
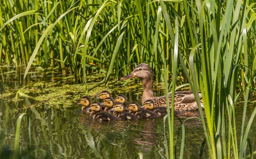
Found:
[[[95,79],[94,79],[95,80]],[[65,84],[52,82],[36,82],[30,83],[22,88],[7,89],[6,93],[0,94],[0,99],[8,101],[22,101],[24,98],[33,100],[31,103],[24,103],[17,107],[14,111],[30,107],[38,107],[44,105],[46,107],[68,108],[76,106],[77,101],[82,96],[88,95],[94,98],[102,90],[110,90],[113,92],[126,92],[132,89],[141,89],[141,84],[135,84],[130,81],[126,87],[119,87],[123,81],[115,81],[113,84],[105,86],[99,85],[97,82],[90,84]],[[157,84],[158,86],[161,86]],[[118,87],[117,87],[118,86]],[[158,87],[161,90],[162,87]],[[141,89],[142,90],[142,89]],[[139,94],[140,92],[138,92]]]

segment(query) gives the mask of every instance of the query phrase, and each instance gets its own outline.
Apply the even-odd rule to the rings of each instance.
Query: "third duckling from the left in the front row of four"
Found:
[[[137,102],[132,102],[129,104],[129,112],[136,115],[138,118],[155,118],[159,117],[158,114],[139,107]]]

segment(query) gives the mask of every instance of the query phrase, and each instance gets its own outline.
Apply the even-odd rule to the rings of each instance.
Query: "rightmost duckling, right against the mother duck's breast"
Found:
[[[166,107],[156,107],[155,103],[151,99],[146,100],[143,103],[142,108],[151,110],[152,112],[158,114],[159,116],[164,116],[167,114]]]

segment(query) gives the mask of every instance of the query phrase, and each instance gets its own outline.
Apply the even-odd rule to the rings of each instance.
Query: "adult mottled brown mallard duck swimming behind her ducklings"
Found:
[[[142,80],[143,85],[143,94],[142,94],[142,103],[146,100],[151,99],[154,101],[155,106],[165,106],[166,107],[166,95],[161,97],[156,97],[153,91],[153,72],[152,68],[145,64],[137,65],[134,70],[129,74],[121,78],[130,79],[130,78],[139,78]],[[199,98],[202,98],[202,94],[199,93]],[[174,110],[175,111],[191,111],[198,109],[197,103],[195,102],[194,94],[191,91],[182,91],[175,92],[174,97]],[[171,94],[169,94],[169,101],[171,103]],[[201,107],[204,108],[202,101]]]

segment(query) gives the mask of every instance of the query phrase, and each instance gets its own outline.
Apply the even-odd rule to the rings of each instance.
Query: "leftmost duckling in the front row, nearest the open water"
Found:
[[[94,120],[100,121],[114,121],[118,120],[117,117],[113,116],[109,112],[102,112],[100,102],[93,102],[90,104],[91,113],[90,116]]]

